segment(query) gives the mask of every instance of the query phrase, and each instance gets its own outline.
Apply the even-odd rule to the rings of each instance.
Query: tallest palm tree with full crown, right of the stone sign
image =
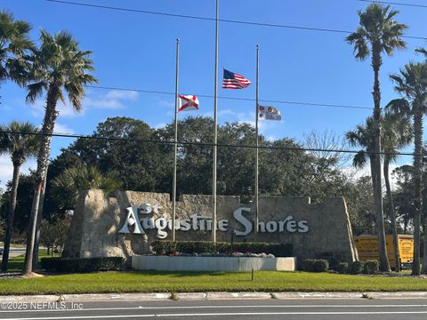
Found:
[[[373,176],[376,229],[378,234],[378,250],[380,252],[380,269],[390,271],[390,263],[385,247],[385,232],[383,220],[383,195],[381,183],[381,91],[380,68],[383,64],[382,53],[391,56],[395,49],[404,49],[406,43],[401,39],[407,26],[394,20],[398,11],[391,10],[390,5],[369,4],[365,11],[359,11],[359,28],[346,37],[349,44],[354,45],[356,59],[366,60],[371,54],[374,69],[374,165],[371,164]],[[369,48],[370,45],[370,48]]]

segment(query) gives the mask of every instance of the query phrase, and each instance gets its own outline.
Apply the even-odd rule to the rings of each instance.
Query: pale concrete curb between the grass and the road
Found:
[[[251,299],[427,299],[427,292],[183,292],[177,300],[251,300]],[[102,301],[171,300],[171,293],[93,293],[63,295],[8,295],[0,301]]]

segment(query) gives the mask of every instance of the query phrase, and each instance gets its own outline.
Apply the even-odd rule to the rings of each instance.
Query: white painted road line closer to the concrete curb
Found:
[[[117,307],[117,308],[46,308],[46,309],[20,309],[0,310],[0,313],[24,313],[24,312],[73,312],[73,311],[114,311],[114,310],[171,310],[171,309],[207,309],[207,308],[427,308],[427,305],[262,305],[262,306],[164,306],[164,307]]]

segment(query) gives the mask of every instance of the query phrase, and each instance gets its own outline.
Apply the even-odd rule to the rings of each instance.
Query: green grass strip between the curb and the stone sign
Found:
[[[398,292],[427,291],[420,277],[306,272],[101,272],[0,280],[0,294],[101,292]]]

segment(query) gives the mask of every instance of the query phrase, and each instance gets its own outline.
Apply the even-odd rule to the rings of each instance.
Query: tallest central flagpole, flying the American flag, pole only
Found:
[[[217,94],[218,94],[218,16],[219,16],[219,0],[215,1],[215,80],[214,80],[214,167],[212,177],[212,200],[213,200],[213,223],[212,223],[212,241],[216,242],[216,144],[217,144]]]

